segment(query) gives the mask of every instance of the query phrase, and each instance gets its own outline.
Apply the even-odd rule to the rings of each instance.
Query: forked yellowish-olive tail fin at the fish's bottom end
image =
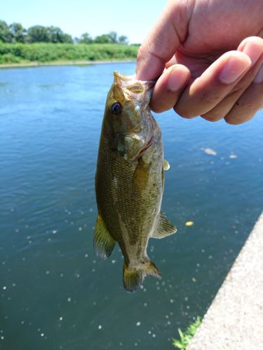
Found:
[[[140,288],[145,276],[155,276],[161,279],[161,273],[154,265],[154,262],[148,260],[142,264],[140,268],[128,267],[124,262],[123,286],[127,292],[135,292],[138,288]]]

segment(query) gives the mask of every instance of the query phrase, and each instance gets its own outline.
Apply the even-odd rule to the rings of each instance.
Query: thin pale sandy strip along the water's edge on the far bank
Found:
[[[54,62],[25,62],[0,64],[0,69],[26,68],[36,66],[87,66],[89,64],[134,63],[135,59],[111,59],[106,61],[54,61]]]

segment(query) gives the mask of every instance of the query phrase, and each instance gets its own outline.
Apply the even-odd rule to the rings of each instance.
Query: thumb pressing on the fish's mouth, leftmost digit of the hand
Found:
[[[158,78],[187,36],[188,1],[169,1],[156,25],[140,46],[136,76],[140,80]],[[191,1],[190,1],[191,2]],[[189,15],[190,16],[190,15]],[[182,38],[182,39],[181,39]]]

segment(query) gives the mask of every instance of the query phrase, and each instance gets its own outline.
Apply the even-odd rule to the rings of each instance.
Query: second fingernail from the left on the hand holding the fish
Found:
[[[224,64],[224,68],[220,72],[219,78],[224,84],[233,84],[243,76],[245,71],[251,66],[250,58],[246,58],[245,55],[240,59],[239,57],[230,56],[227,62]]]

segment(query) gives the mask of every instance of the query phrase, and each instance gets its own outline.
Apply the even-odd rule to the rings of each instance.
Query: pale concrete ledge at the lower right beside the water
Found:
[[[263,213],[187,350],[262,349]]]

